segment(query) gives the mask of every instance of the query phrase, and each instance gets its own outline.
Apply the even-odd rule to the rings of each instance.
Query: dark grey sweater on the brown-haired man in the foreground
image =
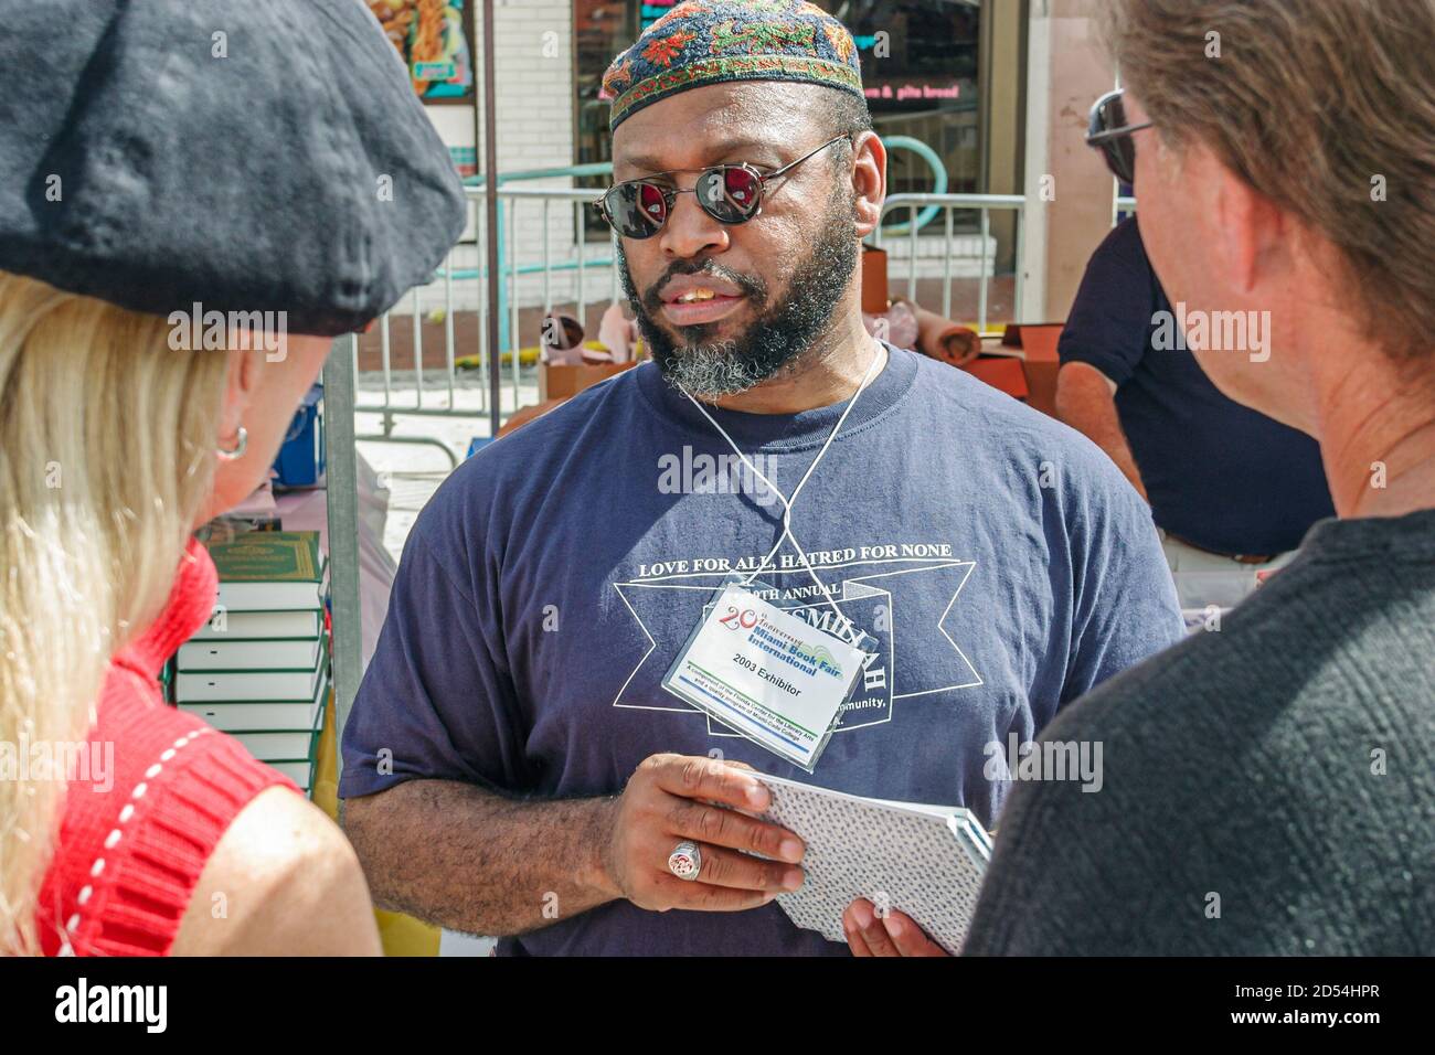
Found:
[[[1322,521],[1042,739],[1104,784],[1013,787],[967,955],[1435,953],[1435,510]]]

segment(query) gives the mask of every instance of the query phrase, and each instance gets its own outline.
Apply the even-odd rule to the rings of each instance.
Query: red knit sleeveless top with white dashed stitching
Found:
[[[191,538],[164,611],[110,660],[86,746],[92,764],[66,785],[40,888],[36,930],[47,956],[164,956],[240,810],[274,785],[298,791],[159,693],[159,669],[210,617],[217,593],[214,561]]]

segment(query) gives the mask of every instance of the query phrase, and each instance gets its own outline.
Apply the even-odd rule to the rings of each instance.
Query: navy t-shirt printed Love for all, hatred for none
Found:
[[[1095,445],[960,370],[888,352],[794,505],[824,589],[877,639],[812,775],[659,686],[723,577],[779,538],[782,507],[643,365],[484,448],[425,507],[343,731],[340,794],[436,778],[603,795],[649,755],[722,752],[852,794],[969,807],[992,825],[1009,733],[1030,739],[1177,642],[1175,590],[1149,510]],[[791,494],[844,408],[713,416]],[[773,603],[824,617],[789,541],[776,561],[762,574]],[[732,914],[616,901],[499,952],[847,946],[776,903]]]

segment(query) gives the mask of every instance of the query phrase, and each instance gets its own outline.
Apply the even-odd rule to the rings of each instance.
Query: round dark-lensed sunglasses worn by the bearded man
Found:
[[[720,224],[745,224],[762,212],[762,192],[771,181],[842,139],[851,139],[851,136],[839,135],[828,139],[815,151],[788,162],[776,172],[763,174],[746,162],[713,165],[699,172],[697,181],[689,189],[656,182],[657,177],[672,175],[672,172],[659,172],[643,179],[614,184],[591,204],[608,221],[608,225],[624,238],[651,238],[662,231],[667,217],[673,212],[679,194],[696,194],[703,212]]]

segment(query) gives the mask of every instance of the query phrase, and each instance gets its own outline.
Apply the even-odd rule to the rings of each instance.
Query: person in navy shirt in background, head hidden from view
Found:
[[[1221,395],[1172,340],[1182,314],[1118,224],[1062,330],[1056,411],[1151,502],[1182,607],[1230,607],[1335,507],[1316,441]]]

